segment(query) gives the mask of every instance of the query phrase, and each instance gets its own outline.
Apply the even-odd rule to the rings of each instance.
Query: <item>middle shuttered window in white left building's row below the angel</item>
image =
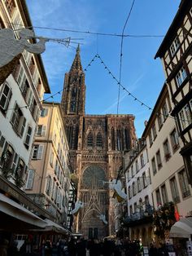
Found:
[[[15,108],[13,110],[12,117],[11,117],[11,125],[13,126],[13,129],[15,130],[15,132],[21,137],[24,134],[25,124],[26,124],[26,118],[21,112],[18,104],[15,104]]]

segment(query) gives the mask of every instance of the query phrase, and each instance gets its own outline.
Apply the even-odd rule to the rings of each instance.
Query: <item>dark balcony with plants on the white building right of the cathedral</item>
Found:
[[[154,213],[154,209],[151,205],[146,205],[146,209],[143,210],[143,207],[140,207],[140,211],[134,214],[130,214],[124,218],[124,225],[132,227],[140,223],[151,222],[151,216]]]

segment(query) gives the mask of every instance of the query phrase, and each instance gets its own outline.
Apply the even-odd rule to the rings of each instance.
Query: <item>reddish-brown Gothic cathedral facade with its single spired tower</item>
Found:
[[[78,178],[77,199],[84,203],[76,217],[76,232],[89,238],[112,235],[115,199],[107,182],[116,179],[124,152],[133,147],[134,117],[85,114],[85,73],[79,46],[65,74],[61,106],[72,167]]]

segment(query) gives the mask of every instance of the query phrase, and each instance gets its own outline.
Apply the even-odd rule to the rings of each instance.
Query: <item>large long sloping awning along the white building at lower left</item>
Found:
[[[0,193],[0,212],[11,216],[11,218],[17,218],[24,223],[33,225],[33,227],[46,227],[46,222],[39,218],[37,215],[33,214],[22,205],[11,200],[7,196]],[[2,220],[3,223],[3,220]],[[18,227],[19,229],[20,227]]]

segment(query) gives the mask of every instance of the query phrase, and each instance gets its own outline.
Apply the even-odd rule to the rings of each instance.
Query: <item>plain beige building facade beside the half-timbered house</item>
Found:
[[[172,201],[184,218],[192,210],[192,191],[179,153],[181,139],[170,115],[172,108],[168,85],[164,84],[142,136],[148,149],[155,209]]]

